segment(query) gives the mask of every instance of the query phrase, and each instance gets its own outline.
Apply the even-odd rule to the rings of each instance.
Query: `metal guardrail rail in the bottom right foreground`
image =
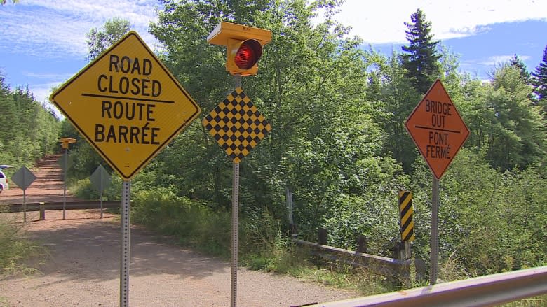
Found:
[[[541,294],[547,294],[547,266],[306,306],[479,307],[495,306]]]

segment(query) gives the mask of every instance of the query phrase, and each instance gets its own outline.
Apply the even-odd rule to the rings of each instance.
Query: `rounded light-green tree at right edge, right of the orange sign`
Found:
[[[505,64],[494,71],[490,85],[475,87],[469,96],[474,101],[466,110],[470,145],[485,152],[495,169],[525,169],[545,157],[545,129],[531,92],[520,69]]]

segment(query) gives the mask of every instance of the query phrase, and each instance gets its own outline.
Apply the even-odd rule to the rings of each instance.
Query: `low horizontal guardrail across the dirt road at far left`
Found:
[[[82,210],[82,209],[99,209],[100,201],[75,201],[67,202],[67,210]],[[0,204],[0,212],[22,212],[23,204]],[[26,210],[40,211],[40,210],[62,210],[63,203],[61,202],[42,202],[42,203],[27,203]],[[120,208],[121,201],[103,201],[102,208]],[[6,208],[6,210],[2,210]]]

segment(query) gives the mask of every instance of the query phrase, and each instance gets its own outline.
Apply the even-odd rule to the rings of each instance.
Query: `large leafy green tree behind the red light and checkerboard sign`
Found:
[[[258,75],[242,82],[273,128],[241,162],[240,202],[246,215],[269,210],[285,217],[284,190],[289,186],[301,230],[313,229],[337,206],[340,191],[360,195],[372,178],[385,180],[378,173],[384,168],[360,168],[372,164],[370,159],[383,159],[379,127],[366,99],[367,64],[361,42],[346,38],[349,30],[330,19],[337,1],[254,4],[250,10],[234,1],[165,1],[151,32],[165,45],[161,56],[166,66],[206,115],[233,89],[224,69],[226,48],[205,41],[210,31],[220,20],[272,31]],[[320,8],[327,10],[325,22],[313,26],[311,18]],[[181,196],[226,208],[229,159],[196,122],[146,171],[165,174],[153,177],[161,185],[180,187]],[[382,165],[393,163],[386,161]]]

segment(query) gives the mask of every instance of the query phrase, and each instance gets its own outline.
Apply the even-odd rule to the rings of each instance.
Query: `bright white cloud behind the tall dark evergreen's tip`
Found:
[[[353,28],[365,43],[405,43],[405,24],[417,8],[431,21],[435,39],[471,36],[488,24],[524,20],[547,21],[544,0],[348,0],[336,19]]]

